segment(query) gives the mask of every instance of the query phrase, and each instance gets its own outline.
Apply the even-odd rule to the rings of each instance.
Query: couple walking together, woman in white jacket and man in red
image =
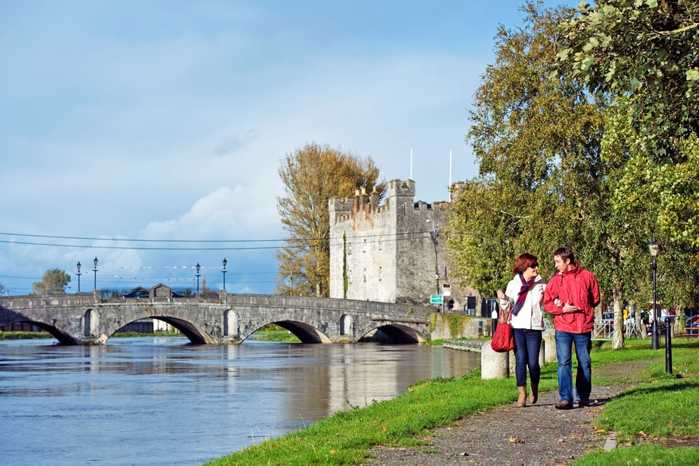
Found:
[[[517,379],[517,407],[526,406],[526,372],[529,370],[529,402],[538,398],[541,368],[539,352],[544,330],[543,310],[554,315],[556,354],[558,355],[559,395],[556,409],[573,407],[572,345],[575,344],[577,373],[575,389],[579,406],[589,407],[592,391],[590,350],[594,326],[594,308],[600,303],[595,276],[575,262],[570,247],[554,252],[556,275],[548,283],[539,275],[537,257],[524,253],[514,263],[514,278],[505,291],[498,290],[500,307],[510,312],[514,333],[514,374]]]

